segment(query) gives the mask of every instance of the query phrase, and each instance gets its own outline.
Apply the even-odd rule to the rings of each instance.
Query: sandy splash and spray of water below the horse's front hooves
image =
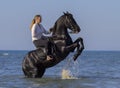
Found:
[[[61,72],[62,79],[77,79],[79,75],[79,63],[74,61],[73,55],[67,57],[66,65],[63,67]]]

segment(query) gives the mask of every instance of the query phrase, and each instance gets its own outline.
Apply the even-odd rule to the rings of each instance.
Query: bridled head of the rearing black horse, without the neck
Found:
[[[69,28],[72,31],[72,33],[80,32],[81,29],[77,24],[77,22],[74,20],[73,15],[71,13],[66,12],[64,13],[63,17],[64,17],[65,26]]]

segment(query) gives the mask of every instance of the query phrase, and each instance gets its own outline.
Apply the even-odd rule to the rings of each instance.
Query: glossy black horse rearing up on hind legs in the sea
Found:
[[[67,29],[70,33],[79,33],[80,27],[74,20],[72,14],[64,13],[50,29],[52,37],[51,42],[52,60],[47,60],[47,55],[44,48],[39,48],[28,52],[22,63],[22,70],[26,77],[37,78],[42,77],[46,68],[52,67],[64,60],[70,52],[77,48],[73,59],[76,60],[84,49],[83,39],[78,38],[75,42],[72,41]]]

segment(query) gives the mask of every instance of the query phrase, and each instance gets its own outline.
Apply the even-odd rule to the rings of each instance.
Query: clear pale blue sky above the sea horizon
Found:
[[[120,0],[0,0],[0,50],[35,49],[30,23],[41,14],[46,30],[69,11],[81,28],[85,50],[120,50]]]

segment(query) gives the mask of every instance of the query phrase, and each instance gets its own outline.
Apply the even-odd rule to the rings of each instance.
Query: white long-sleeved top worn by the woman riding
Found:
[[[42,24],[33,24],[32,29],[32,41],[40,39],[44,34],[49,34],[48,31],[42,26]]]

